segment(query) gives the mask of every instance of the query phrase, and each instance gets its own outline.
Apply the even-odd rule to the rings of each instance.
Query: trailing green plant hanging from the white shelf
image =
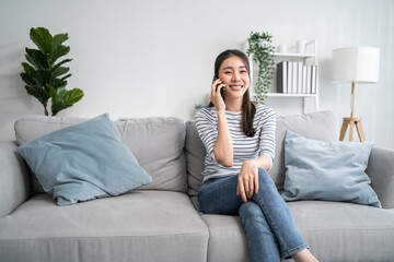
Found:
[[[271,41],[273,36],[268,32],[251,32],[247,38],[247,56],[252,55],[252,60],[258,63],[258,75],[254,86],[255,99],[264,104],[267,92],[275,73],[274,52],[275,48]]]

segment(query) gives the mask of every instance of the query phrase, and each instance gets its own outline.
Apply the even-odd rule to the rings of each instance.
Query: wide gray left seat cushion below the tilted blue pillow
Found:
[[[37,194],[0,218],[0,228],[4,261],[206,261],[207,255],[208,228],[181,192],[136,190],[69,206]]]

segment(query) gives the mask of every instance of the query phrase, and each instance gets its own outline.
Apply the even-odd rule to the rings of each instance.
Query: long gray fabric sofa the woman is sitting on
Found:
[[[206,152],[192,121],[115,121],[154,182],[119,196],[57,206],[42,193],[15,148],[83,120],[25,116],[15,122],[16,141],[0,143],[0,261],[248,261],[240,218],[198,210]],[[337,141],[338,119],[331,111],[277,118],[276,162],[269,175],[279,191],[286,130]],[[321,261],[394,261],[394,151],[373,147],[367,174],[383,209],[288,202]]]

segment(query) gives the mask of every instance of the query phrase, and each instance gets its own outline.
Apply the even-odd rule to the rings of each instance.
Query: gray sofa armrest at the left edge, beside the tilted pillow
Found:
[[[0,142],[0,217],[31,196],[31,175],[15,142]]]

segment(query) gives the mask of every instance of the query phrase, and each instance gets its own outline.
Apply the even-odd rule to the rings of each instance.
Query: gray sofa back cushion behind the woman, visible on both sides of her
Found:
[[[283,189],[285,182],[285,154],[283,143],[286,131],[290,130],[309,139],[320,141],[338,141],[339,128],[338,119],[333,111],[316,111],[303,115],[278,116],[276,129],[276,152],[275,163],[269,170],[269,175],[276,183],[278,190]],[[197,195],[202,181],[201,171],[204,170],[204,158],[206,148],[199,139],[196,126],[193,121],[186,122],[186,144],[185,144],[188,193]]]

